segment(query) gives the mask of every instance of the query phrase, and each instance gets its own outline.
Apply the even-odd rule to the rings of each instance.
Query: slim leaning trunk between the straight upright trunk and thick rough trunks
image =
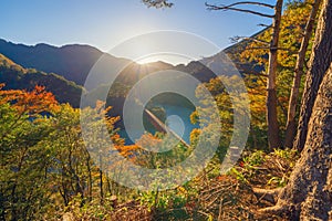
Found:
[[[288,107],[288,118],[287,118],[286,136],[284,136],[284,144],[283,144],[284,147],[290,147],[290,148],[293,147],[293,140],[295,136],[295,114],[297,114],[297,107],[298,107],[299,94],[300,94],[299,88],[301,84],[301,77],[304,72],[303,67],[305,63],[305,53],[308,50],[309,41],[312,35],[314,21],[320,4],[321,4],[321,0],[315,0],[312,6],[311,13],[305,25],[304,35],[302,38],[301,48],[299,50],[299,54],[297,59],[293,85],[292,85],[291,96],[289,99],[289,107]]]

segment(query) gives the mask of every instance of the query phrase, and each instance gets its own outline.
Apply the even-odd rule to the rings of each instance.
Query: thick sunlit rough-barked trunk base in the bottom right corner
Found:
[[[309,125],[301,158],[273,209],[291,220],[332,220],[332,63]]]

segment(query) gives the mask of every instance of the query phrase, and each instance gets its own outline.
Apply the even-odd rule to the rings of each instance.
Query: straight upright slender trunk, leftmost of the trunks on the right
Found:
[[[268,95],[267,95],[267,124],[268,124],[268,139],[270,149],[280,147],[279,125],[277,113],[277,66],[278,66],[278,44],[280,33],[280,22],[282,12],[282,0],[278,0],[274,9],[273,18],[273,33],[270,44],[269,67],[268,67]]]

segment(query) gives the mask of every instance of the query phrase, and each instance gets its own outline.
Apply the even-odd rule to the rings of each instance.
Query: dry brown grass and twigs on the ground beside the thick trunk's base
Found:
[[[201,179],[198,196],[188,200],[183,208],[172,208],[170,204],[162,211],[148,209],[138,201],[129,201],[110,210],[103,220],[287,220],[283,217],[259,213],[260,209],[273,203],[263,197],[257,197],[253,188],[274,189],[284,186],[295,161],[295,154],[276,151],[269,155],[259,152],[259,158],[251,156],[243,157],[228,175]],[[72,215],[69,220],[92,219]]]

